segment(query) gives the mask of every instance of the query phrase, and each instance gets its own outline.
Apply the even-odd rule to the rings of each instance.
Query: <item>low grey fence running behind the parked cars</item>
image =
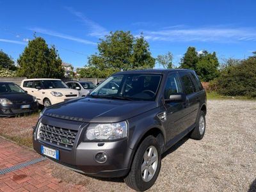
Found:
[[[12,82],[12,83],[16,83],[20,86],[20,83],[22,82],[23,79],[26,79],[26,77],[0,77],[0,82]],[[98,78],[81,78],[81,79],[63,78],[62,80],[64,82],[67,82],[67,81],[90,81],[94,84],[104,81],[104,79],[98,79]]]

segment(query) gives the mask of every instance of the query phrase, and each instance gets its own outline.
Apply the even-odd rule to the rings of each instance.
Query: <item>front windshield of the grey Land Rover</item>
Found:
[[[99,84],[91,97],[127,100],[154,100],[161,81],[158,74],[124,74],[111,76]]]

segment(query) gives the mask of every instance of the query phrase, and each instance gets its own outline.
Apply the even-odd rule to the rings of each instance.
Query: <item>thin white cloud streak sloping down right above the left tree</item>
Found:
[[[81,44],[91,44],[91,45],[96,45],[95,42],[89,41],[89,40],[84,40],[83,38],[78,38],[76,36],[70,36],[70,35],[65,35],[63,33],[58,33],[56,31],[51,31],[48,29],[42,29],[42,28],[29,28],[31,31],[35,31],[36,33],[42,33],[45,35],[50,35],[50,36],[56,36],[58,38],[64,38],[67,40],[72,40],[74,42],[79,42]]]

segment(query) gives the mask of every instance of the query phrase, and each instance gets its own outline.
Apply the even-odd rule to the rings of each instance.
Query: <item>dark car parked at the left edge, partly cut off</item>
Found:
[[[0,82],[0,116],[37,111],[38,102],[15,83]]]

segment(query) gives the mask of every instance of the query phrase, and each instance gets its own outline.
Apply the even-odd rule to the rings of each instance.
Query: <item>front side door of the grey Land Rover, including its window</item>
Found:
[[[170,99],[170,95],[183,93],[182,84],[177,72],[168,74],[166,84],[164,86],[164,99]],[[166,122],[163,122],[166,127],[167,140],[172,140],[175,136],[180,134],[186,125],[186,104],[185,101],[168,102],[164,101],[164,107],[166,108]]]

